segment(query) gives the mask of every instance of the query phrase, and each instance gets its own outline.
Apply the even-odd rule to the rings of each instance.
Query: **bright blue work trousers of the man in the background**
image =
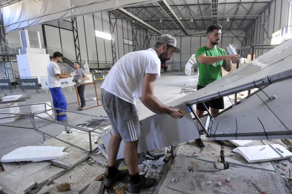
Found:
[[[63,110],[56,110],[57,121],[66,120],[67,117],[67,101],[61,90],[61,87],[49,88],[53,97],[54,108],[60,108]]]

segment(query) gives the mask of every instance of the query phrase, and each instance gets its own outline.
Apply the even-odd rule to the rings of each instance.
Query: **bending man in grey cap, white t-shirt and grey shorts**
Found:
[[[154,96],[154,83],[160,77],[160,66],[171,59],[172,53],[180,53],[176,39],[168,34],[159,37],[153,48],[131,52],[120,58],[109,71],[101,85],[101,102],[105,109],[114,134],[108,146],[108,176],[105,186],[112,187],[121,180],[125,172],[116,168],[117,153],[121,140],[124,141],[124,157],[130,174],[132,193],[154,185],[155,179],[145,178],[138,172],[137,146],[140,138],[140,123],[136,99],[152,112],[168,114],[178,119],[184,111],[172,109]]]

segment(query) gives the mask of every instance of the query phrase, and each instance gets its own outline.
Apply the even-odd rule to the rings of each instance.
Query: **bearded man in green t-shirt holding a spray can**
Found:
[[[204,88],[206,85],[214,82],[222,77],[221,67],[227,72],[230,72],[232,63],[236,63],[239,60],[239,55],[226,55],[226,50],[218,48],[216,45],[221,38],[222,26],[219,24],[213,24],[207,29],[208,42],[206,46],[201,47],[196,52],[196,59],[199,70],[198,86],[197,90]],[[217,98],[208,102],[205,102],[207,108],[210,107],[211,115],[217,115],[220,109],[224,109],[223,98]],[[205,108],[202,103],[197,104],[196,114],[201,116],[204,114]],[[204,148],[205,145],[201,138],[195,140],[197,146]],[[224,141],[217,141],[219,144],[224,144]]]

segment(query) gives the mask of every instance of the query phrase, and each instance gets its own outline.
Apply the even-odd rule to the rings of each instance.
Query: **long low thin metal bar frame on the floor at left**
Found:
[[[9,108],[14,108],[14,107],[25,107],[25,106],[31,106],[31,105],[42,105],[42,104],[45,106],[45,110],[44,110],[44,111],[39,111],[39,112],[34,112],[34,113],[29,113],[29,114],[0,112],[0,114],[7,114],[7,115],[29,116],[29,117],[31,118],[32,127],[18,127],[18,126],[5,125],[5,124],[0,124],[0,126],[5,126],[5,127],[17,127],[17,128],[23,128],[23,129],[34,129],[35,131],[37,131],[37,132],[39,132],[39,133],[41,133],[41,134],[43,135],[43,137],[44,137],[44,141],[46,141],[46,138],[45,138],[45,137],[46,137],[46,136],[49,136],[49,137],[51,137],[51,138],[57,139],[57,140],[59,140],[59,141],[62,141],[63,143],[67,143],[67,144],[70,145],[70,146],[73,146],[73,147],[75,147],[75,148],[78,148],[78,149],[80,149],[80,150],[83,150],[83,151],[85,151],[85,152],[87,152],[87,153],[92,153],[92,152],[94,152],[95,150],[98,149],[98,147],[95,148],[95,149],[92,149],[92,145],[91,145],[91,133],[102,134],[102,133],[99,133],[99,132],[97,132],[97,131],[95,131],[95,130],[96,130],[96,129],[100,129],[100,128],[104,127],[104,126],[107,126],[107,125],[109,124],[109,121],[106,122],[105,124],[102,124],[102,125],[100,125],[100,126],[98,126],[98,127],[95,127],[94,129],[85,129],[85,128],[83,128],[83,127],[78,127],[78,126],[74,126],[74,125],[72,125],[72,124],[62,123],[62,122],[56,121],[56,110],[63,110],[63,109],[60,109],[60,108],[54,108],[53,106],[48,105],[47,103],[35,103],[35,104],[28,104],[28,105],[10,106]],[[46,106],[49,106],[50,109],[46,109]],[[4,108],[7,108],[7,107],[2,107],[2,108],[0,108],[0,111],[1,111],[1,109],[4,109]],[[53,116],[51,116],[51,115],[49,115],[49,114],[47,113],[47,112],[50,111],[50,110],[53,110],[53,111],[55,112],[55,117],[53,117]],[[105,118],[105,117],[99,117],[99,116],[95,116],[95,115],[89,115],[89,114],[85,114],[85,113],[81,113],[81,112],[74,112],[74,111],[70,111],[70,110],[63,110],[63,111],[72,112],[72,113],[79,114],[79,115],[86,115],[86,116],[95,117],[95,118],[107,119],[107,118]],[[45,113],[46,113],[51,119],[47,119],[47,118],[43,118],[43,117],[38,116],[38,114],[40,114],[40,113],[44,113],[44,112],[45,112]],[[18,117],[18,116],[11,116],[11,117]],[[1,119],[5,119],[5,118],[11,118],[11,117],[0,118],[0,120],[1,120]],[[50,121],[50,123],[47,123],[47,124],[45,124],[45,125],[43,125],[43,126],[39,126],[39,127],[38,127],[38,126],[36,126],[36,124],[35,124],[34,117],[37,117],[37,118],[40,118],[40,119],[43,119],[43,120],[46,120],[46,121]],[[44,132],[44,131],[39,130],[41,127],[48,126],[49,124],[52,124],[52,123],[57,123],[57,124],[60,124],[60,125],[64,126],[64,127],[65,127],[65,131],[67,131],[67,132],[69,132],[69,131],[67,130],[67,127],[71,127],[71,128],[74,128],[74,129],[78,129],[78,130],[81,130],[81,131],[87,132],[87,133],[88,133],[88,136],[89,136],[89,150],[86,150],[86,149],[81,148],[81,147],[79,147],[79,146],[76,146],[76,145],[74,145],[74,144],[72,144],[72,143],[69,143],[69,142],[67,142],[67,141],[65,141],[65,140],[62,140],[62,139],[60,139],[60,138],[57,138],[57,137],[55,137],[54,135],[51,135],[51,134],[48,134],[48,133],[46,133],[46,132]]]

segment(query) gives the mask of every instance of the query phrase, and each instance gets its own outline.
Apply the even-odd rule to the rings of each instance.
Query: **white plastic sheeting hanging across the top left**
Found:
[[[9,4],[11,2],[11,4]],[[1,4],[5,34],[28,26],[145,4],[149,0],[20,0]]]

